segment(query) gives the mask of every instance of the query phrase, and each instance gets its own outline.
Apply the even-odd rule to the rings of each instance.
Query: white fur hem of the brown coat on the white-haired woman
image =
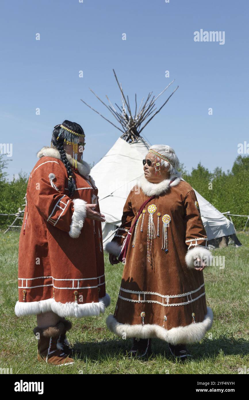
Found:
[[[106,318],[106,324],[110,331],[117,336],[126,338],[158,338],[173,345],[190,344],[202,340],[206,332],[213,324],[213,311],[207,307],[207,314],[202,322],[195,322],[187,326],[178,326],[169,330],[156,324],[120,324],[113,315]]]

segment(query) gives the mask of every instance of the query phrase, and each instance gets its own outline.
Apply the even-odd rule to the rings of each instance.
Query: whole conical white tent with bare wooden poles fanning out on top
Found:
[[[92,108],[92,110],[100,114],[102,118],[122,132],[121,137],[118,138],[114,146],[112,146],[108,153],[91,170],[91,175],[98,187],[100,210],[105,215],[106,219],[106,222],[102,223],[104,243],[112,240],[114,233],[121,223],[123,207],[129,191],[133,186],[139,190],[139,178],[143,175],[141,161],[145,158],[147,150],[149,149],[149,144],[140,136],[140,133],[178,88],[177,86],[157,111],[155,111],[155,100],[163,94],[173,81],[156,98],[155,96],[151,98],[152,92],[149,93],[145,103],[143,104],[142,100],[139,108],[137,108],[137,96],[135,94],[135,113],[132,114],[129,98],[127,96],[127,99],[125,99],[122,86],[118,82],[115,71],[114,75],[122,93],[121,107],[115,103],[116,108],[114,108],[108,96],[106,97],[109,106],[106,105],[92,90],[91,91],[108,108],[116,120],[118,120],[122,126],[121,129],[82,100],[88,107]],[[145,122],[145,120],[147,121]],[[142,124],[143,126],[141,126]],[[201,218],[208,239],[213,240],[223,236],[234,235],[236,231],[233,223],[205,200],[196,190],[195,194],[200,206]]]

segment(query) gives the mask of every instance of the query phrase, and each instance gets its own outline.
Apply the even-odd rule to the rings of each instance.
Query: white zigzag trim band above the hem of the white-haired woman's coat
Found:
[[[120,288],[120,293],[119,293],[118,297],[121,300],[126,300],[126,301],[130,301],[130,302],[134,302],[134,303],[156,303],[156,304],[159,304],[159,305],[164,306],[164,307],[184,306],[186,304],[194,302],[195,300],[197,300],[200,297],[205,295],[205,290],[204,290],[204,292],[199,294],[199,296],[197,296],[195,298],[192,298],[192,294],[194,294],[194,293],[198,292],[199,290],[201,290],[201,288],[203,288],[203,286],[204,286],[204,283],[199,288],[197,288],[195,290],[192,290],[190,292],[183,293],[183,294],[174,294],[174,295],[163,295],[163,294],[159,294],[159,293],[155,293],[155,292],[136,292],[134,290],[127,290],[127,289]],[[123,296],[121,296],[121,292],[130,293],[130,294],[137,294],[137,300],[136,299],[131,299],[131,298],[128,298],[128,297],[124,297],[124,294],[123,294]],[[143,296],[143,298],[141,298],[141,295]],[[146,300],[145,296],[147,296],[147,297],[158,296],[158,297],[161,298],[161,301],[151,300],[151,298],[148,298]],[[181,303],[171,303],[170,304],[171,299],[173,299],[173,298],[181,298],[181,297],[186,297],[187,301],[186,302],[181,302]],[[166,300],[166,302],[164,300]]]

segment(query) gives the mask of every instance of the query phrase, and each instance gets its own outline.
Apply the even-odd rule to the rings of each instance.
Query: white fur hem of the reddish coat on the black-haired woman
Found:
[[[106,293],[106,296],[99,299],[98,303],[86,303],[78,304],[77,302],[61,303],[56,302],[54,299],[47,299],[34,302],[16,302],[15,314],[18,317],[32,314],[42,314],[44,312],[53,311],[60,317],[90,317],[98,316],[100,313],[104,313],[106,307],[110,305],[110,296]]]

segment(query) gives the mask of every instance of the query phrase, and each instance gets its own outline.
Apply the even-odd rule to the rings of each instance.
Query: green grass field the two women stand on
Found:
[[[122,265],[106,261],[106,288],[112,302],[99,317],[71,318],[68,340],[81,350],[75,366],[58,368],[37,361],[37,341],[32,332],[36,317],[18,318],[14,306],[18,299],[19,232],[0,233],[0,367],[13,374],[238,374],[249,368],[249,235],[238,233],[241,248],[228,246],[213,254],[225,256],[225,268],[204,270],[207,305],[214,313],[212,329],[200,342],[189,345],[192,360],[175,362],[160,340],[152,341],[148,360],[130,360],[125,351],[131,339],[121,340],[106,328],[105,319],[114,312],[122,276]]]

